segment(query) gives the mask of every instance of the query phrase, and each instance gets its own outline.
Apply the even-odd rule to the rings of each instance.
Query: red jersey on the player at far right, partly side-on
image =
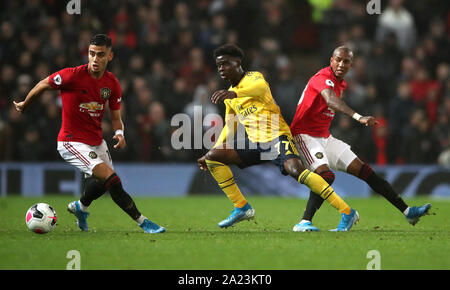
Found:
[[[328,108],[327,102],[320,92],[329,88],[340,98],[346,87],[345,80],[339,81],[334,76],[331,67],[321,69],[310,78],[300,97],[291,123],[292,135],[330,136],[329,128],[335,112]]]

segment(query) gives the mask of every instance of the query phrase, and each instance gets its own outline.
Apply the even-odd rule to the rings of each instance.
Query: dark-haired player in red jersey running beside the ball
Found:
[[[111,156],[102,138],[101,123],[108,105],[117,143],[115,149],[126,146],[120,105],[122,93],[115,75],[106,70],[113,58],[111,39],[105,34],[95,35],[88,48],[89,63],[64,68],[41,80],[22,102],[14,102],[19,112],[25,112],[31,102],[46,90],[60,90],[62,126],[58,135],[61,157],[85,175],[85,189],[78,201],[67,209],[77,218],[78,227],[88,230],[87,208],[95,199],[109,191],[114,202],[146,233],[162,233],[165,229],[143,216],[123,189],[114,172]]]

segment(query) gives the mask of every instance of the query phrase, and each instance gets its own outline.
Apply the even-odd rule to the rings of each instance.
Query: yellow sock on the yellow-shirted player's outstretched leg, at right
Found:
[[[333,188],[319,174],[305,169],[298,177],[298,182],[308,186],[312,192],[320,195],[339,213],[350,214],[350,206],[334,192]]]

